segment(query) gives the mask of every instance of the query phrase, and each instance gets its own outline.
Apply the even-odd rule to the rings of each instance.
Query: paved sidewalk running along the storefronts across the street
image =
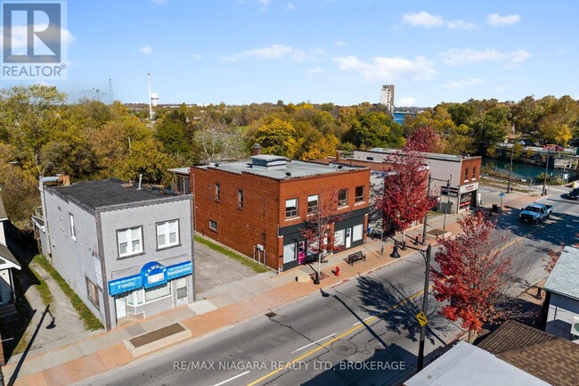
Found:
[[[498,204],[500,202],[498,189],[493,186],[485,186],[485,191],[487,191],[483,193],[485,209],[492,207],[493,203]],[[510,193],[502,200],[502,205],[503,207],[519,208],[534,200],[536,197],[530,197],[526,193]],[[456,220],[462,215],[462,213],[446,215],[445,230],[452,234],[459,232],[460,226]],[[428,230],[442,229],[443,222],[443,215],[428,218]],[[412,242],[411,239],[417,235],[421,239],[421,234],[422,226],[408,230],[406,242]],[[396,237],[400,239],[399,234]],[[434,239],[429,240],[429,242],[436,243]],[[384,246],[382,255],[380,255],[381,246]],[[191,331],[192,338],[190,339],[215,333],[251,317],[265,315],[274,308],[299,300],[311,293],[319,292],[320,288],[330,288],[345,283],[358,275],[365,275],[381,267],[386,267],[397,260],[389,257],[393,246],[392,240],[380,242],[369,239],[361,246],[336,253],[327,259],[328,262],[322,264],[322,273],[328,277],[322,279],[319,286],[314,285],[311,281],[298,283],[296,280],[298,275],[314,272],[312,268],[307,266],[295,268],[273,277],[251,277],[247,281],[241,281],[242,283],[239,285],[232,285],[226,289],[226,292],[215,294],[206,300],[168,310],[133,324],[125,324],[110,332],[75,341],[59,349],[35,353],[34,357],[23,355],[20,362],[18,358],[15,358],[14,361],[11,358],[11,361],[2,368],[4,382],[15,385],[60,386],[85,380],[135,360],[123,345],[124,340],[142,333],[159,330],[159,328],[177,322]],[[366,260],[360,260],[352,266],[347,264],[345,261],[347,255],[358,250],[362,250],[366,254]],[[404,259],[415,251],[399,250],[399,253]],[[340,268],[339,276],[332,273],[335,267]],[[248,282],[251,282],[251,285],[244,285]],[[165,349],[165,347],[161,349]],[[15,382],[13,380],[9,382],[14,376],[16,377]]]

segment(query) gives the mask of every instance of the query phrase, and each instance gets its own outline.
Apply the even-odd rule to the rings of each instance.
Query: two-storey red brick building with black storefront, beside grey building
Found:
[[[370,169],[254,155],[191,168],[195,230],[281,272],[310,248],[300,229],[337,193],[335,243],[366,238]]]

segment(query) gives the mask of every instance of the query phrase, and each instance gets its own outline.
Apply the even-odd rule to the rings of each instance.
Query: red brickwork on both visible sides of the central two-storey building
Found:
[[[274,269],[281,267],[283,254],[283,240],[277,237],[278,225],[301,223],[307,214],[308,195],[347,188],[345,212],[368,206],[369,169],[283,181],[215,168],[192,168],[191,173],[195,229],[250,257],[255,245],[264,245],[267,265]],[[220,185],[219,202],[215,201],[216,184]],[[355,205],[355,187],[359,185],[365,186],[364,201]],[[238,209],[238,189],[244,193],[243,209]],[[286,220],[286,198],[298,198],[299,218]],[[217,231],[209,229],[209,219],[217,222]]]

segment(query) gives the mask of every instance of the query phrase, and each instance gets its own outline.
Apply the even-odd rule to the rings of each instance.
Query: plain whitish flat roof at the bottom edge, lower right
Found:
[[[514,365],[459,341],[426,366],[419,374],[404,382],[405,386],[548,386],[549,383],[518,369]]]

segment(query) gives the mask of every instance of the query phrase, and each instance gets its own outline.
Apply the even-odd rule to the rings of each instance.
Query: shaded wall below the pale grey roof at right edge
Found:
[[[579,300],[551,292],[545,332],[565,339],[579,339],[579,336],[571,335],[574,316],[579,316]]]

